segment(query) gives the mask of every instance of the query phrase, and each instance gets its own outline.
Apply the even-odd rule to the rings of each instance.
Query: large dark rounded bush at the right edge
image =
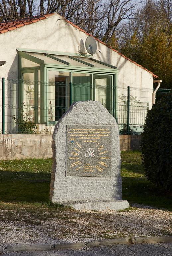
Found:
[[[148,111],[141,150],[145,176],[163,191],[172,192],[172,93]]]

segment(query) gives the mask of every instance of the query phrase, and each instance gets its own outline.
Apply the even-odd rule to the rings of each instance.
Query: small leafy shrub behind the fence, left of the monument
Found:
[[[25,102],[22,103],[22,107],[19,108],[19,118],[15,116],[11,116],[15,121],[15,124],[18,124],[18,130],[20,134],[36,134],[37,133],[37,125],[34,122],[34,117],[29,117],[26,111]]]

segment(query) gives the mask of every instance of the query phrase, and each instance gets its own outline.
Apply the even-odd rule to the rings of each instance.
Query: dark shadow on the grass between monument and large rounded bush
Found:
[[[172,198],[153,187],[144,177],[122,177],[123,200],[172,211]]]

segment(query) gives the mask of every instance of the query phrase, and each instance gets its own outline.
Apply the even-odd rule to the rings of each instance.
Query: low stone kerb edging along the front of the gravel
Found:
[[[93,240],[86,244],[79,243],[61,243],[61,244],[17,244],[7,247],[7,251],[49,251],[49,250],[64,250],[64,249],[82,249],[87,247],[98,247],[115,244],[140,244],[140,243],[172,243],[172,236],[150,236],[150,237],[124,237],[112,238],[104,240]],[[0,248],[0,252],[4,252]]]

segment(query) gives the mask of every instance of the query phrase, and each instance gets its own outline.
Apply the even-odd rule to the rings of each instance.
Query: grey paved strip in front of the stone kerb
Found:
[[[2,256],[171,256],[172,243],[116,245],[86,250],[61,250],[46,252],[13,252]]]

